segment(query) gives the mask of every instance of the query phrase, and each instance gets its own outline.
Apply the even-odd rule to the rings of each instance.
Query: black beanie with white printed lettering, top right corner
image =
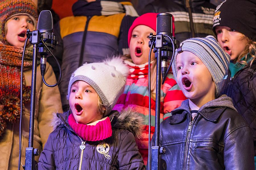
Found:
[[[235,29],[256,41],[256,0],[226,0],[216,7],[213,32],[217,26]]]

